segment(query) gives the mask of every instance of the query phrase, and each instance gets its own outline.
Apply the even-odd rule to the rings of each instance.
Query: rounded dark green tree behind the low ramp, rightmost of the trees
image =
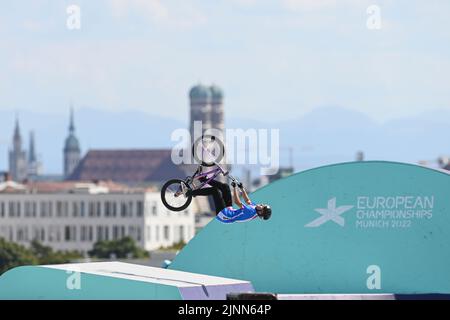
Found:
[[[136,242],[130,237],[119,240],[97,241],[89,251],[89,255],[100,259],[116,258],[147,258],[148,252],[139,248]]]

